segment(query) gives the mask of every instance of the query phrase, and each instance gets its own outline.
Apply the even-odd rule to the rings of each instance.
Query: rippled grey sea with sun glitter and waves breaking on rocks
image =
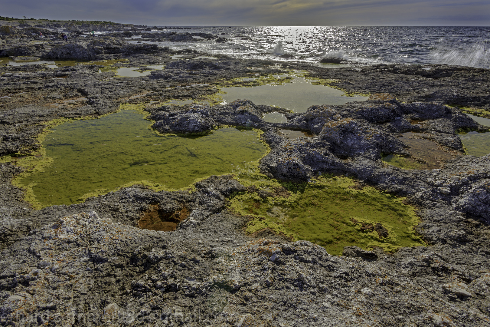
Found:
[[[183,26],[164,31],[212,33],[226,42],[201,39],[159,42],[159,46],[236,58],[318,63],[323,57],[340,57],[370,65],[450,64],[490,68],[488,26]],[[145,42],[139,38],[126,41]]]

